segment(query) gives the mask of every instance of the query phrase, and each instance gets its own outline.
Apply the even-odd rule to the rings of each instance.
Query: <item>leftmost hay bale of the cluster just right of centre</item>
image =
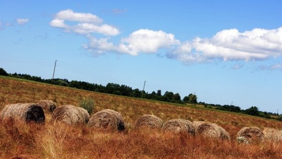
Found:
[[[135,128],[139,127],[162,128],[163,120],[155,115],[143,115],[137,119]]]

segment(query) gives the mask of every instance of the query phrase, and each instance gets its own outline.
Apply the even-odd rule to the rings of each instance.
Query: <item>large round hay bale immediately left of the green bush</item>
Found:
[[[68,125],[87,124],[90,115],[82,107],[64,105],[57,107],[52,113],[54,122],[63,122]]]

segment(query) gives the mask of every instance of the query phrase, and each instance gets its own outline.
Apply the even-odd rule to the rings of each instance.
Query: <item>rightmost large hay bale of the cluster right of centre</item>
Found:
[[[201,123],[200,125],[198,125],[196,129],[196,135],[203,135],[206,137],[230,140],[229,133],[226,132],[222,127],[214,123],[207,123],[207,122]]]

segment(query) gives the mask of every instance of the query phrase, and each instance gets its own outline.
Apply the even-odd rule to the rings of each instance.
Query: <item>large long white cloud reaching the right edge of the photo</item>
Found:
[[[167,53],[167,57],[178,58],[187,63],[213,59],[263,60],[281,55],[282,27],[271,30],[255,28],[245,32],[237,29],[222,30],[212,38],[195,38]]]

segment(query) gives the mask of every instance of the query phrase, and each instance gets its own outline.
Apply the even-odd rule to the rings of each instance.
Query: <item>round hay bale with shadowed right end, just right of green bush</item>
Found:
[[[120,113],[111,109],[96,112],[89,120],[88,126],[124,131],[124,121]]]

